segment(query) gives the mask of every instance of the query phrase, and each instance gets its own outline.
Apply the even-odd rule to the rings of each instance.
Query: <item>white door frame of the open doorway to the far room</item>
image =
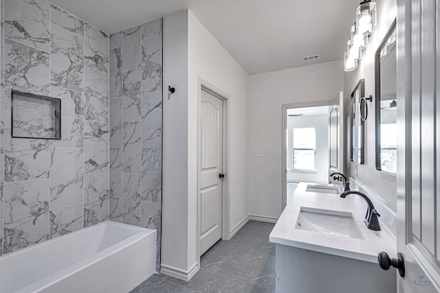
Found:
[[[338,95],[339,97],[339,95]],[[281,112],[281,190],[283,195],[281,196],[281,211],[283,211],[287,205],[287,110],[295,108],[308,108],[308,107],[319,107],[319,106],[331,106],[333,105],[333,100],[330,101],[317,101],[317,102],[306,102],[306,103],[293,103],[293,104],[283,104]]]

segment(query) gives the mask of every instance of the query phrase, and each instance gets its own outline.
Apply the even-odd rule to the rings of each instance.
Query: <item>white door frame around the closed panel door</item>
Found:
[[[201,232],[201,206],[199,202],[199,191],[201,183],[201,91],[206,91],[214,97],[221,99],[223,103],[223,135],[222,135],[222,172],[225,173],[225,179],[221,180],[221,239],[230,239],[230,197],[229,197],[229,180],[228,180],[228,99],[230,96],[212,85],[210,82],[198,78],[197,81],[197,263],[200,267],[200,232]]]

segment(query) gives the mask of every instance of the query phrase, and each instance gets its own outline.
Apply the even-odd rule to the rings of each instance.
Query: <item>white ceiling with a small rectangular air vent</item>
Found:
[[[189,8],[249,74],[341,60],[359,1],[52,0],[112,34]],[[320,54],[303,62],[303,56]]]

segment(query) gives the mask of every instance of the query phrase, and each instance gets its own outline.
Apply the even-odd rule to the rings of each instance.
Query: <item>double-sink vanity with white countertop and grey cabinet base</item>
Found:
[[[397,255],[395,212],[351,180],[352,190],[368,194],[382,214],[382,230],[373,231],[364,224],[363,198],[340,198],[331,192],[334,185],[324,187],[299,183],[270,233],[276,292],[395,293],[396,270],[382,270],[377,260],[382,251]]]

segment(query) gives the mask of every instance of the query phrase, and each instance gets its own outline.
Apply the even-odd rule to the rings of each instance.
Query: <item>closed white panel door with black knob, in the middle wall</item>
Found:
[[[201,91],[199,148],[200,255],[221,239],[221,176],[223,162],[223,102]]]

